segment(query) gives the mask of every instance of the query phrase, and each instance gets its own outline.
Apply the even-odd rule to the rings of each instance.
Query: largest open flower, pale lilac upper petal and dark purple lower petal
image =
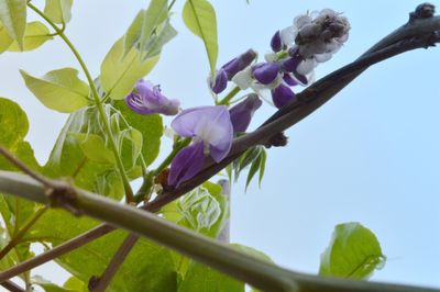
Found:
[[[191,137],[193,144],[183,148],[173,159],[169,186],[179,187],[196,176],[204,168],[207,155],[220,162],[231,149],[233,128],[224,105],[185,110],[174,119],[172,127],[178,135]]]

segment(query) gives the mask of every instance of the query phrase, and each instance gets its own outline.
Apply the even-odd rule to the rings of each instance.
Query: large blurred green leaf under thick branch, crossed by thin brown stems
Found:
[[[97,224],[96,221],[75,217],[63,210],[50,210],[31,229],[29,236],[57,246]],[[127,236],[128,233],[122,231],[112,232],[62,256],[57,259],[57,263],[80,281],[88,283],[91,276],[102,273]],[[140,239],[106,291],[174,292],[176,282],[176,272],[169,251],[162,246]]]

